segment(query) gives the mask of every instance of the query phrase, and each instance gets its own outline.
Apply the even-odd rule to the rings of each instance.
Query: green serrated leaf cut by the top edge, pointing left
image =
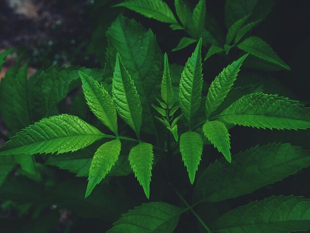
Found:
[[[178,24],[169,6],[162,0],[127,0],[114,6],[127,7],[160,22]]]

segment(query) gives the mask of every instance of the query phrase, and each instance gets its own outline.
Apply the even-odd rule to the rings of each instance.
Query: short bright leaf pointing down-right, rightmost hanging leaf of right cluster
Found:
[[[231,163],[230,139],[228,129],[220,121],[207,121],[203,126],[207,139],[222,153],[225,159]]]

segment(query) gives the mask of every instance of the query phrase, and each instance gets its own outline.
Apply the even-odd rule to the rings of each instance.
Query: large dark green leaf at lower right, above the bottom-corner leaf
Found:
[[[199,177],[195,199],[219,202],[252,193],[310,165],[310,151],[290,144],[256,146],[233,156],[231,164],[220,159]]]

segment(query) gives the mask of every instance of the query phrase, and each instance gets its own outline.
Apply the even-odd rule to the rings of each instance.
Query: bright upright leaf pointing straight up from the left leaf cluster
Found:
[[[142,106],[134,81],[117,54],[112,80],[112,99],[118,115],[135,130],[138,138],[142,123]]]

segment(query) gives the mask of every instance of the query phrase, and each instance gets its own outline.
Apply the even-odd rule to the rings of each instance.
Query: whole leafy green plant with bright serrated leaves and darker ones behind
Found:
[[[131,204],[127,206],[125,202],[129,198],[122,196],[125,185],[117,183],[118,177],[113,179],[113,176],[133,172],[145,196],[152,201],[141,197],[142,201],[134,203],[134,209],[114,222],[108,231],[111,233],[173,232],[179,218],[187,211],[192,212],[203,232],[309,230],[310,199],[300,196],[278,194],[250,201],[228,212],[222,211],[226,213],[215,216],[211,225],[206,224],[195,209],[207,203],[209,209],[204,211],[214,211],[218,208],[217,203],[225,205],[226,200],[252,193],[310,165],[310,151],[290,143],[271,141],[272,144],[257,145],[231,155],[229,130],[236,125],[271,130],[310,128],[310,108],[302,102],[263,93],[261,83],[236,86],[238,73],[249,54],[289,69],[258,37],[248,37],[239,43],[260,20],[244,25],[250,17],[247,14],[234,22],[228,30],[226,44],[221,48],[215,45],[216,42],[213,44],[210,32],[204,27],[205,0],[199,0],[193,12],[183,1],[175,0],[181,23],[161,0],[127,0],[117,6],[126,6],[169,23],[174,30],[185,30],[192,38],[183,38],[175,50],[197,42],[194,52],[181,68],[169,63],[168,55],[161,53],[151,30],[120,15],[106,32],[108,49],[104,70],[52,66],[28,79],[28,63],[20,67],[23,57],[19,58],[5,74],[0,86],[1,116],[10,133],[17,132],[0,148],[0,183],[17,163],[26,176],[39,183],[42,176],[54,180],[53,175],[46,175],[52,174],[49,166],[69,170],[77,176],[88,176],[87,187],[82,181],[74,181],[71,187],[69,180],[63,184],[69,188],[61,187],[59,192],[57,188],[54,190],[55,181],[49,183],[45,180],[43,189],[48,191],[39,193],[46,195],[51,192],[51,203],[61,206],[64,197],[58,200],[59,193],[75,192],[75,187],[79,187],[76,192],[83,192],[86,199],[77,198],[78,201],[72,202],[73,206],[83,202],[81,212],[86,216],[107,212],[104,218],[109,219],[109,214],[118,214],[115,206],[120,211],[133,207]],[[206,59],[223,51],[228,54],[234,46],[247,54],[227,65],[207,85],[208,67],[203,72],[202,47],[209,45]],[[0,65],[11,52],[0,54]],[[80,86],[82,92],[76,95],[73,105],[86,103],[87,106],[75,107],[61,114],[61,101]],[[78,112],[79,108],[83,111]],[[92,115],[87,117],[88,108]],[[206,150],[212,146],[222,158],[213,161],[208,158],[210,155]],[[200,173],[198,168],[202,166],[202,159],[207,167]],[[173,173],[181,160],[188,173],[187,179],[182,176],[186,174],[185,169]],[[152,188],[152,170],[156,167],[159,167],[156,172],[159,185],[157,183],[156,187],[160,189],[162,186],[164,192],[177,196],[182,204],[176,201],[165,203],[160,192]],[[112,184],[114,181],[116,184]],[[189,181],[194,188],[180,191],[177,181]],[[153,190],[158,196],[153,195]],[[141,192],[142,189],[138,189],[135,195]],[[184,194],[192,199],[190,204]],[[35,191],[33,194],[29,191],[29,195],[36,197]],[[112,203],[97,206],[99,199],[112,200]],[[43,206],[46,204],[41,202]],[[141,205],[141,202],[145,203]],[[87,212],[85,206],[90,213],[84,213]],[[104,209],[106,206],[111,206],[108,211]],[[79,205],[73,208],[79,209]]]

